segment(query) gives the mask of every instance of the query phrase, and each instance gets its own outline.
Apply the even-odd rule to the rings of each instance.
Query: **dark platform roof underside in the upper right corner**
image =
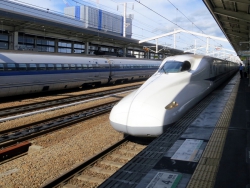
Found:
[[[250,1],[203,0],[234,50],[249,51]]]

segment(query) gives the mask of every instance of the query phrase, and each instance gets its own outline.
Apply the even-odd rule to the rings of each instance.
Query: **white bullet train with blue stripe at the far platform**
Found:
[[[0,97],[149,78],[160,61],[0,52]]]

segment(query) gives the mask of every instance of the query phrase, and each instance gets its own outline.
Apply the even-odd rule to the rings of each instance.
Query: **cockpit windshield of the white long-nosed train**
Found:
[[[191,68],[191,64],[188,61],[166,61],[166,63],[162,66],[159,72],[163,73],[178,73],[187,71]]]

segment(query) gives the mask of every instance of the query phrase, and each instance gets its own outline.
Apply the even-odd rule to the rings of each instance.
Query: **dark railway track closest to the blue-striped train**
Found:
[[[102,97],[105,95],[111,95],[111,94],[118,93],[118,92],[133,90],[133,89],[139,88],[140,85],[112,89],[112,90],[102,91],[102,92],[94,92],[90,94],[84,94],[81,96],[68,97],[68,98],[57,99],[57,100],[46,101],[46,102],[37,102],[35,104],[22,105],[18,107],[5,108],[5,109],[0,110],[0,117],[5,118],[10,115],[22,114],[24,112],[31,112],[34,110],[44,109],[44,108],[48,108],[52,106],[55,107],[55,106],[59,106],[63,104],[69,104],[69,103],[78,102],[82,100],[88,100],[88,99],[95,98],[95,97]]]

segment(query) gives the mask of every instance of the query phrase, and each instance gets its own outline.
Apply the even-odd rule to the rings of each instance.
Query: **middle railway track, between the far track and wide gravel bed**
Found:
[[[87,108],[77,112],[73,112],[67,115],[58,116],[48,120],[24,125],[21,127],[15,127],[12,129],[4,130],[0,132],[0,148],[2,150],[8,150],[8,147],[24,142],[33,138],[36,138],[41,135],[45,135],[52,131],[76,124],[80,121],[93,118],[95,116],[109,112],[112,107],[119,100],[109,102],[103,105],[98,105],[92,108]],[[2,151],[0,150],[0,151]],[[18,153],[19,151],[16,150]],[[13,154],[11,155],[13,156]],[[9,156],[9,157],[11,157]],[[8,156],[3,156],[0,161],[6,160]]]

